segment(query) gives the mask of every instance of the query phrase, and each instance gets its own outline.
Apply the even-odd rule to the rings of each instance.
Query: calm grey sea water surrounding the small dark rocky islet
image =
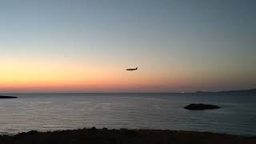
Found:
[[[0,132],[110,129],[197,130],[256,136],[256,96],[195,94],[8,94],[0,99]],[[222,106],[190,111],[190,103]]]

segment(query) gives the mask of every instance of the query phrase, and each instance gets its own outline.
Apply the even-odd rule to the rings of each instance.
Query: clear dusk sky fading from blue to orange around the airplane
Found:
[[[2,0],[0,92],[251,89],[255,46],[254,0]]]

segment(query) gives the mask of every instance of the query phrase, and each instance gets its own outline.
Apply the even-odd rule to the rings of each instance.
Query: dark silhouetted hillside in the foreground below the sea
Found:
[[[50,144],[75,144],[75,143],[106,143],[106,144],[236,144],[256,143],[256,137],[242,137],[228,134],[199,133],[172,130],[64,130],[54,132],[37,132],[16,134],[14,136],[0,136],[0,143],[50,143]]]

